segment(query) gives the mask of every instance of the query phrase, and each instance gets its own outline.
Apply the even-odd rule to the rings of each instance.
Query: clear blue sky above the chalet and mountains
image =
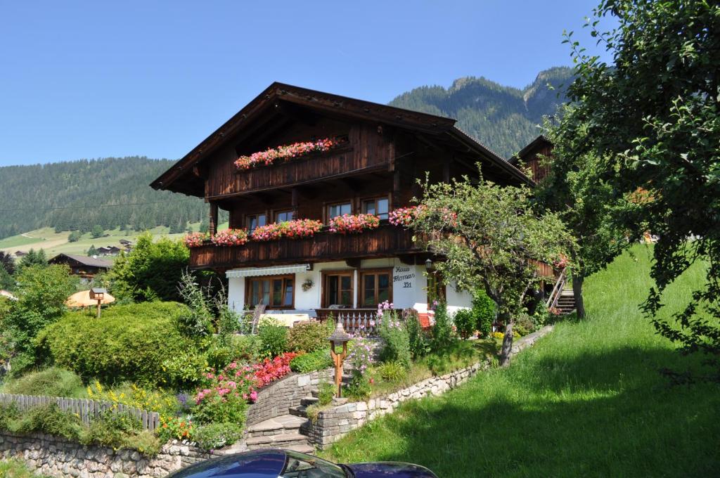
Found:
[[[570,65],[597,0],[1,1],[0,166],[181,158],[272,81],[389,102]],[[589,35],[579,35],[592,45]]]

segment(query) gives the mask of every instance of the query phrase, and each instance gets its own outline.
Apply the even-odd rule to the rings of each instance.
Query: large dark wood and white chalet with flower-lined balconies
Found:
[[[451,308],[471,297],[444,286],[426,268],[441,260],[413,242],[413,231],[392,225],[393,209],[420,194],[418,179],[477,177],[498,184],[527,184],[515,166],[461,130],[455,120],[274,83],[168,169],[153,188],[203,197],[210,204],[210,233],[217,210],[230,212],[230,227],[253,230],[291,219],[320,220],[372,213],[379,227],[341,235],[324,227],[313,238],[280,239],[191,248],[194,269],[214,269],[229,279],[235,310],[265,303],[270,310],[376,310],[426,313],[444,294]],[[340,142],[268,166],[241,169],[241,155],[330,138]],[[429,261],[428,261],[429,259]],[[429,282],[429,284],[428,284]],[[302,287],[301,287],[302,286]],[[337,312],[337,310],[336,310]]]

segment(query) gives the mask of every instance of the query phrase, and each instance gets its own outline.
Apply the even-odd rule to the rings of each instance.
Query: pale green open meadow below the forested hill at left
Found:
[[[199,222],[193,222],[189,224],[192,230],[198,230],[200,226]],[[228,227],[227,222],[219,226],[220,229]],[[169,233],[169,227],[158,226],[153,227],[149,230],[156,238],[167,236],[169,238],[183,238],[185,233]],[[42,227],[40,229],[32,230],[24,235],[14,235],[9,238],[0,239],[0,251],[7,253],[15,253],[15,251],[30,251],[31,248],[45,249],[45,253],[48,258],[56,256],[59,253],[66,254],[85,254],[85,252],[94,245],[96,248],[108,245],[114,245],[120,247],[120,239],[127,239],[135,243],[135,238],[140,235],[137,231],[121,231],[121,230],[109,230],[105,231],[105,235],[102,238],[92,238],[90,233],[82,235],[81,239],[71,243],[68,242],[69,231],[63,231],[62,233],[55,233],[52,227]],[[109,256],[106,258],[108,261],[112,261],[113,257]]]

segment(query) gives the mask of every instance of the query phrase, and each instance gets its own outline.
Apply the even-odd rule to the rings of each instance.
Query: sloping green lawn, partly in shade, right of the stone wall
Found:
[[[410,402],[323,456],[413,461],[441,478],[716,476],[720,387],[660,374],[699,358],[673,351],[638,312],[651,282],[647,249],[634,251],[588,279],[586,320],[558,324],[508,369]],[[666,313],[702,272],[668,291]]]

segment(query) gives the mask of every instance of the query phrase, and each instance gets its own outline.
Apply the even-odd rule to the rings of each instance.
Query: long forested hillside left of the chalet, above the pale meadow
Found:
[[[184,230],[207,216],[202,199],[148,184],[174,161],[132,156],[0,168],[0,238],[38,227]],[[132,205],[124,205],[132,204]]]

